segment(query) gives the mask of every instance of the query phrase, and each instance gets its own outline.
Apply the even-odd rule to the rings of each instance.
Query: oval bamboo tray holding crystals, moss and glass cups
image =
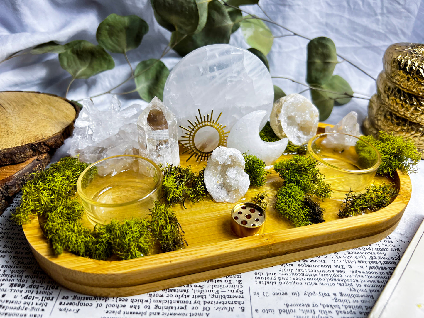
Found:
[[[318,133],[323,131],[320,124]],[[181,149],[180,149],[181,150]],[[205,163],[181,164],[193,170]],[[286,156],[282,156],[286,157]],[[79,293],[95,296],[130,296],[165,288],[201,282],[245,271],[253,271],[299,259],[315,257],[369,245],[388,236],[399,223],[411,195],[411,181],[397,171],[391,181],[399,194],[377,212],[340,219],[336,215],[340,201],[326,200],[326,222],[293,228],[271,206],[281,178],[273,172],[261,189],[250,189],[245,201],[257,192],[266,191],[271,198],[264,233],[237,237],[230,229],[230,212],[235,204],[201,201],[176,205],[173,210],[184,229],[188,246],[184,250],[153,254],[138,259],[100,261],[69,252],[56,256],[43,236],[38,220],[23,225],[23,231],[41,268],[56,282]]]

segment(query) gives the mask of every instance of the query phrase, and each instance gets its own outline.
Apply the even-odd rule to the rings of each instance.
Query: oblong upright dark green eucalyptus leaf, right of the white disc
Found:
[[[312,39],[307,47],[306,81],[311,85],[323,85],[330,80],[337,64],[336,46],[324,36]]]

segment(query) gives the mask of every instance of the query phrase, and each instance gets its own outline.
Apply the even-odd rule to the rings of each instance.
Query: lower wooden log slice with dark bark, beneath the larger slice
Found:
[[[0,214],[6,209],[26,181],[34,179],[50,162],[50,155],[42,153],[30,159],[0,167]]]

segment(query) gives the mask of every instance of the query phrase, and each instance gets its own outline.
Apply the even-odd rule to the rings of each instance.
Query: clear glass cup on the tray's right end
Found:
[[[349,191],[368,187],[381,163],[381,156],[373,145],[342,133],[312,137],[307,144],[307,154],[318,163],[333,198],[344,198]]]

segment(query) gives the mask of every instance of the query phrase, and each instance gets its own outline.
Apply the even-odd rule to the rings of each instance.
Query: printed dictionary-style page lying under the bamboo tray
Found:
[[[0,316],[366,317],[408,240],[396,230],[348,251],[128,297],[94,297],[57,284],[39,267],[11,212],[0,218]]]

